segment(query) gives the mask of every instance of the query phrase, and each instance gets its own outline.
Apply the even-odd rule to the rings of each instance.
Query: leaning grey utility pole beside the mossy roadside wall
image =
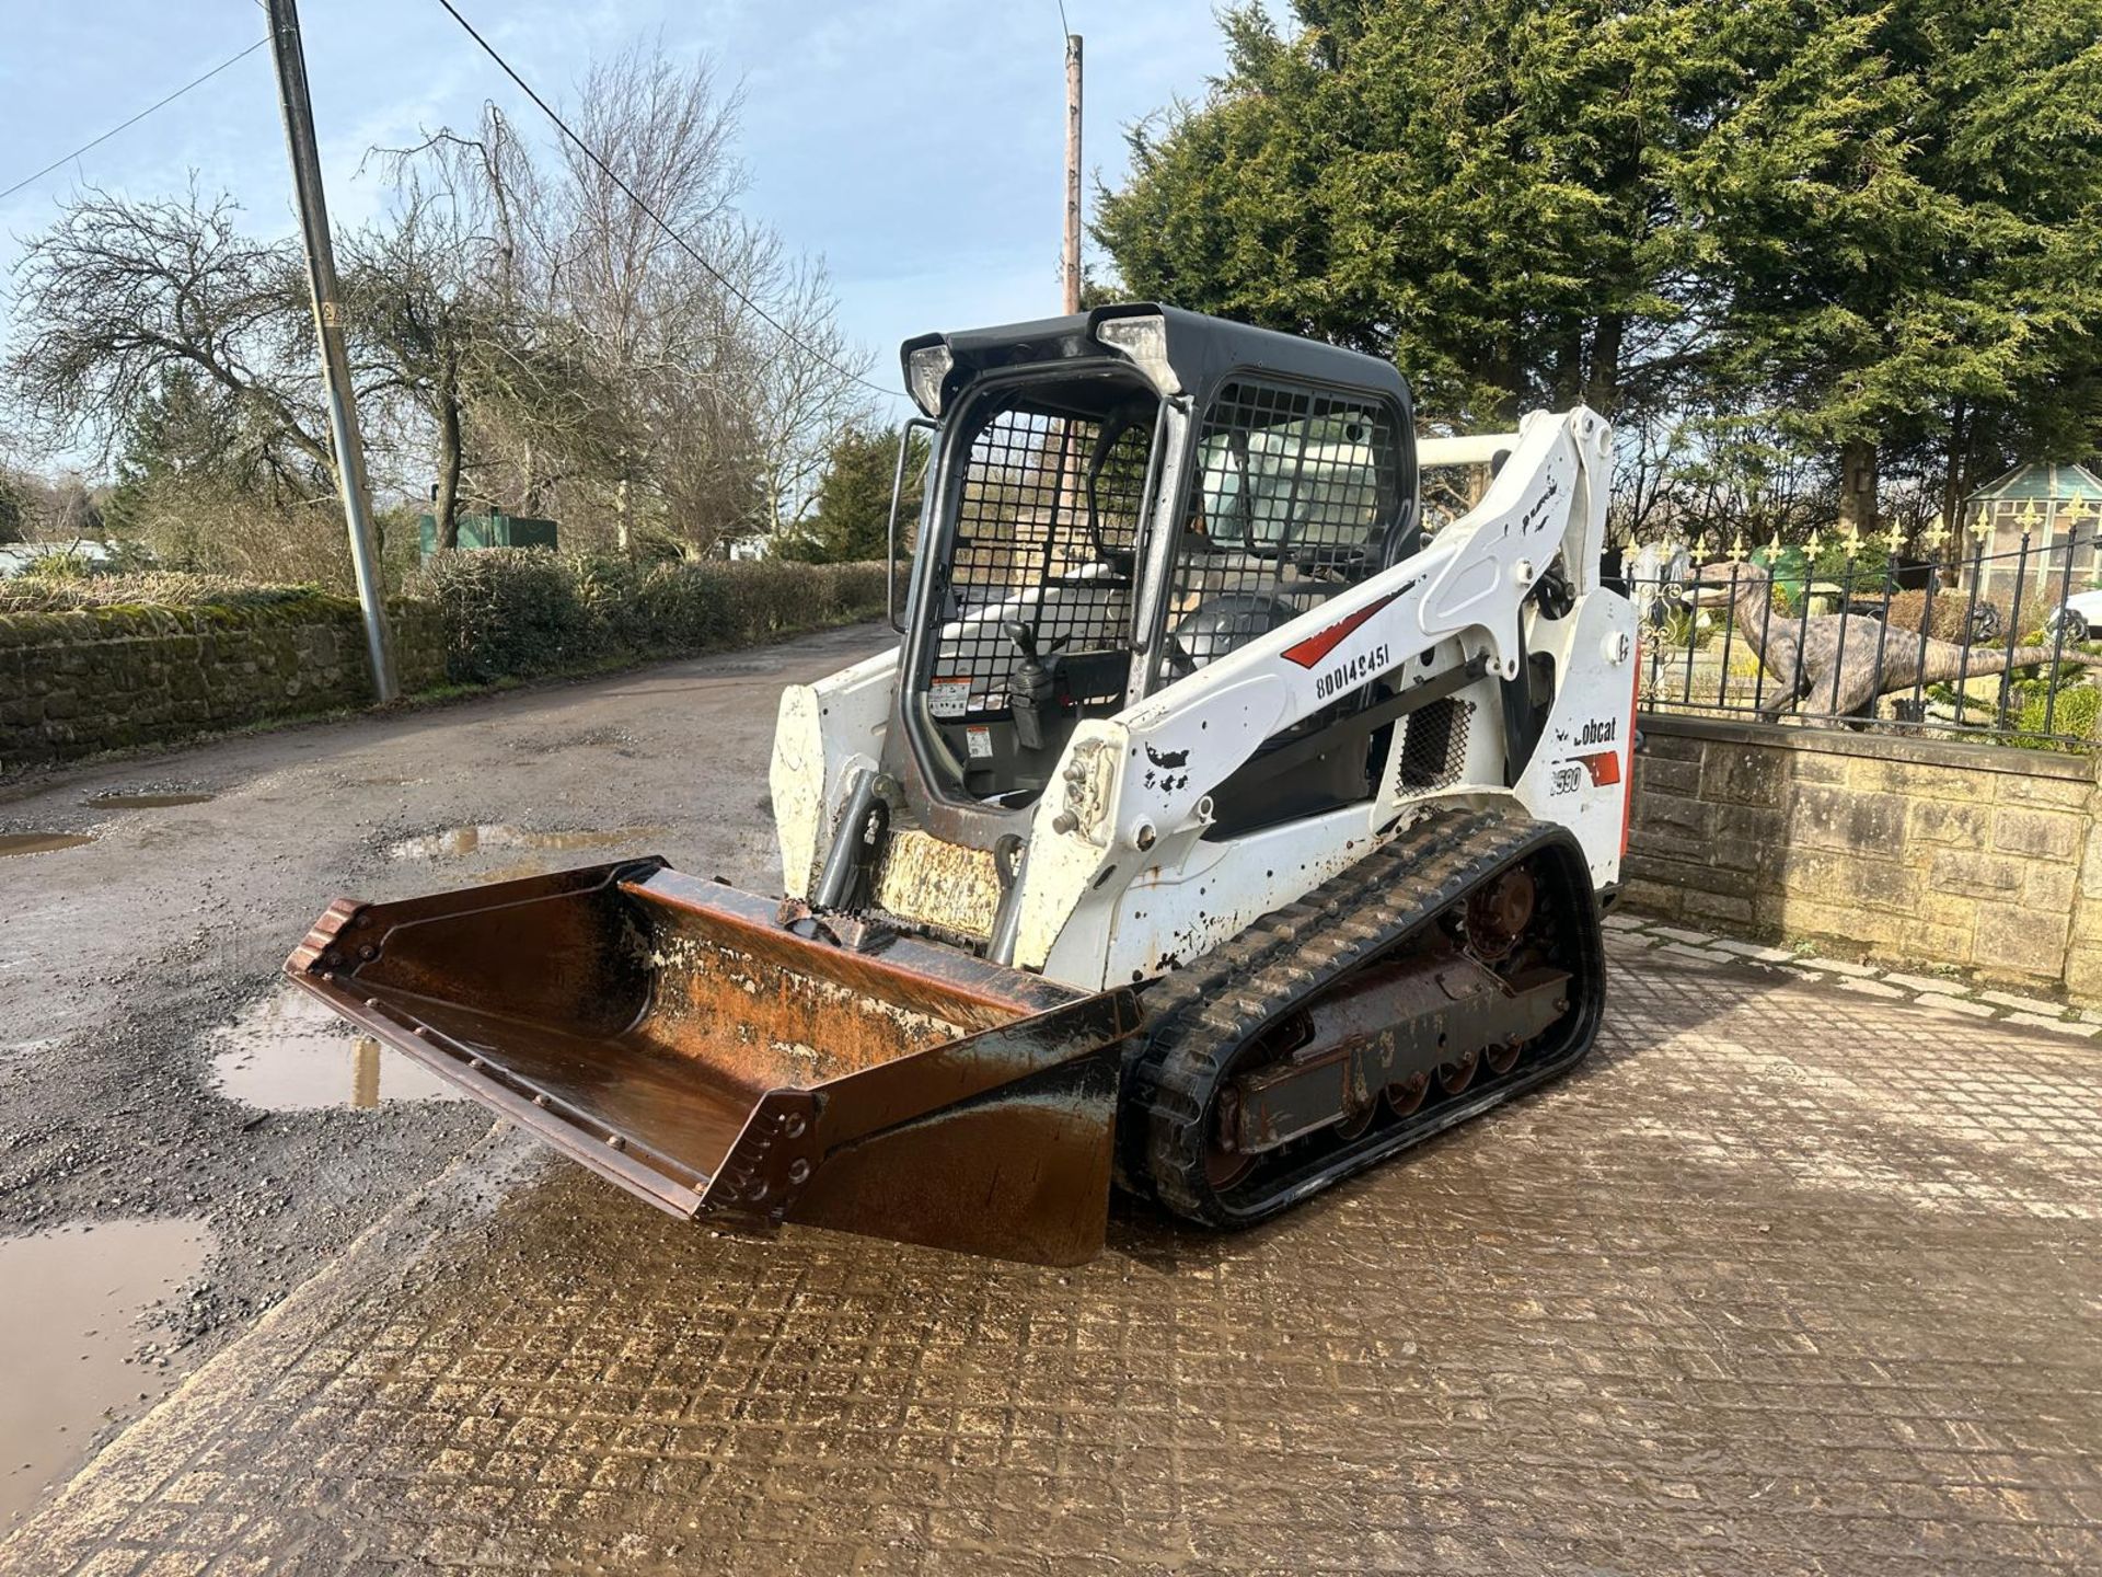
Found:
[[[328,204],[322,200],[322,156],[313,143],[313,101],[307,97],[307,55],[298,42],[298,6],[294,0],[267,0],[265,11],[269,13],[271,59],[277,63],[277,99],[284,105],[284,141],[292,153],[298,229],[307,242],[307,286],[313,294],[313,328],[322,341],[322,391],[328,395],[328,435],[336,446],[336,486],[343,490],[343,521],[351,532],[357,606],[366,614],[372,696],[387,704],[401,690],[395,683],[393,637],[387,629],[387,587],[380,580],[372,494],[366,488],[366,444],[357,431],[351,360],[343,349],[336,248],[328,238]]]

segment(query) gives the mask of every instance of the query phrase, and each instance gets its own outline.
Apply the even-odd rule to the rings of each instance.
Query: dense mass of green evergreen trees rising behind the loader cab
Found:
[[[2102,439],[2102,0],[1295,0],[1131,135],[1131,294],[1944,503]],[[1782,456],[1785,458],[1785,456]]]

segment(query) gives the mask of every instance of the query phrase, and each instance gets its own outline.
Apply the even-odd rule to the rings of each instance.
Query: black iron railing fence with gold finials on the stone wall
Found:
[[[2102,561],[2091,538],[1946,561],[1801,549],[1627,555],[1642,704],[2096,751]]]

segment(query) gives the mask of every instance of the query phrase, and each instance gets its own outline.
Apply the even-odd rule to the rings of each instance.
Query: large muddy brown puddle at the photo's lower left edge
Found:
[[[141,1354],[139,1316],[198,1274],[200,1222],[97,1222],[0,1241],[0,1527],[67,1478],[111,1413],[137,1417],[183,1375]]]

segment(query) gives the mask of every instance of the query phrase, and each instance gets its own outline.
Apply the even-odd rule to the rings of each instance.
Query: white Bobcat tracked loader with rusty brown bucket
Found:
[[[1637,671],[1606,423],[1417,439],[1392,366],[1156,305],[904,370],[902,639],[782,696],[784,898],[338,900],[288,974],[679,1215],[1043,1264],[1112,1182],[1255,1222],[1568,1070]],[[1434,467],[1492,479],[1434,521]]]

